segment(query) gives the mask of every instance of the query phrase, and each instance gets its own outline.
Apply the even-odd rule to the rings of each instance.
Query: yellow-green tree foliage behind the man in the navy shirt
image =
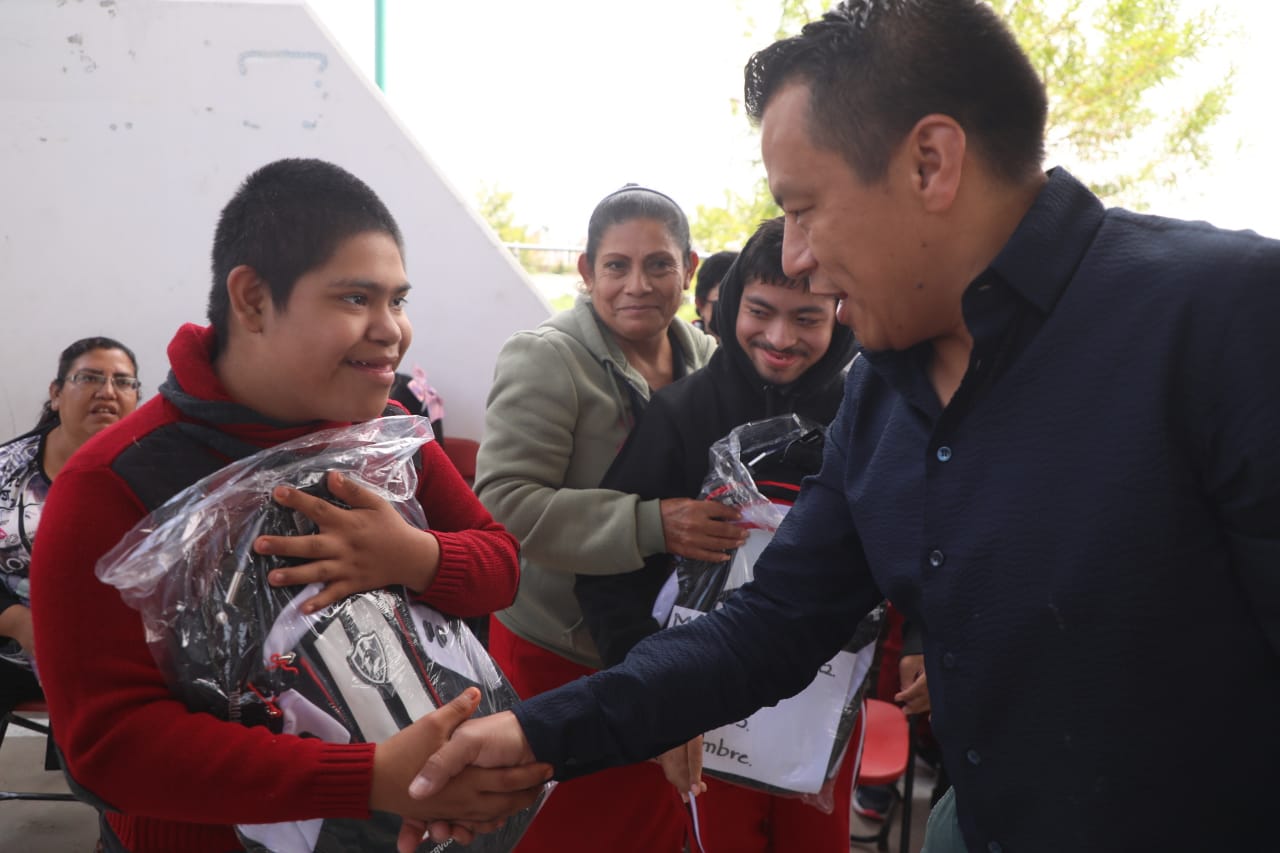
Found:
[[[1234,72],[1199,82],[1228,33],[1216,9],[1184,13],[1181,0],[988,0],[1044,79],[1051,164],[1065,163],[1108,204],[1142,209],[1146,195],[1210,163],[1208,131],[1226,113]],[[800,31],[831,0],[782,0],[774,37]],[[1189,88],[1174,101],[1171,85]],[[735,109],[736,109],[735,104]],[[754,197],[726,193],[699,206],[704,251],[741,246],[778,210],[763,179]]]

